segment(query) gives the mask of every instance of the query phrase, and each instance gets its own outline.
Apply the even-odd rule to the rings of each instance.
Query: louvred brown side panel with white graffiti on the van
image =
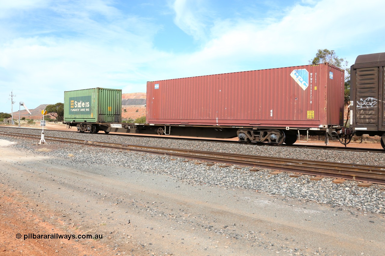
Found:
[[[357,69],[357,126],[378,128],[378,78],[378,67]]]

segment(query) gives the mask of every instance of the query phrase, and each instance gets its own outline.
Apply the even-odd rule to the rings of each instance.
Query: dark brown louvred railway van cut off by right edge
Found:
[[[381,136],[385,149],[385,53],[359,55],[350,68],[350,130]]]

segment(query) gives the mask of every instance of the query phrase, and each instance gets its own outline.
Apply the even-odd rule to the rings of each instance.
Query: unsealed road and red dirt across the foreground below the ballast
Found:
[[[73,165],[11,146],[1,146],[0,155],[1,255],[380,255],[384,250],[380,214],[355,216],[313,202],[190,185],[130,168]],[[28,233],[103,238],[23,240]]]

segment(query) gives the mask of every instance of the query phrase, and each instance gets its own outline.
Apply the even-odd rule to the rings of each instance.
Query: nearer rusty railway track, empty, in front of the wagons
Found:
[[[40,135],[28,135],[23,133],[12,132],[0,132],[0,135],[31,138],[35,140],[40,138]],[[184,150],[177,148],[163,148],[141,145],[127,145],[52,136],[45,136],[45,140],[58,141],[62,143],[76,143],[79,145],[97,146],[102,148],[138,151],[142,153],[151,153],[157,155],[168,155],[172,157],[181,157],[230,165],[251,166],[255,168],[254,170],[266,168],[272,170],[288,171],[293,173],[302,173],[332,178],[343,178],[346,180],[355,180],[385,185],[385,167],[383,166],[333,163],[326,161],[276,158],[271,156],[241,155],[232,153]]]

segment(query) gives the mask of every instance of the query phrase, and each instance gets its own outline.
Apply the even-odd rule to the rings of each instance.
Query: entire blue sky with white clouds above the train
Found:
[[[385,52],[383,0],[1,0],[0,112],[87,88]]]

